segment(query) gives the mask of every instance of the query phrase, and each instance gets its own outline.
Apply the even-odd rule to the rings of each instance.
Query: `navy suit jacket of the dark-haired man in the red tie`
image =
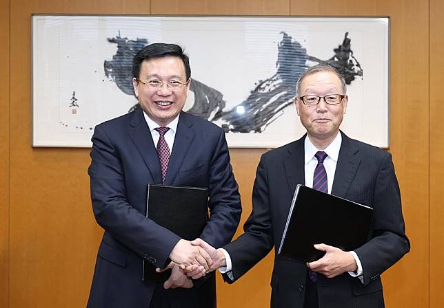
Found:
[[[161,168],[142,109],[96,126],[92,143],[92,208],[105,233],[88,307],[147,308],[154,283],[142,283],[142,259],[165,267],[180,238],[144,215],[147,184],[161,184]],[[230,242],[241,201],[222,129],[182,112],[165,185],[208,188],[210,219],[201,238],[214,247]],[[214,276],[208,281],[205,294],[199,287],[171,290],[179,307],[203,307],[196,302],[202,296],[214,302]]]

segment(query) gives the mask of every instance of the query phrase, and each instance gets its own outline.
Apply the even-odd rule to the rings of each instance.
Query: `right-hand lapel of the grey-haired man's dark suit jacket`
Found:
[[[350,184],[352,184],[356,170],[361,163],[361,159],[356,155],[358,148],[353,145],[352,140],[342,131],[341,134],[342,143],[334,173],[332,195],[345,197]]]

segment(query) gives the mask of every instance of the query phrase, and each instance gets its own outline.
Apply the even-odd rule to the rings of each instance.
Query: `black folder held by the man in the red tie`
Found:
[[[208,221],[208,188],[148,184],[146,217],[192,241]],[[156,266],[143,260],[142,281],[163,282],[171,270],[156,272]]]

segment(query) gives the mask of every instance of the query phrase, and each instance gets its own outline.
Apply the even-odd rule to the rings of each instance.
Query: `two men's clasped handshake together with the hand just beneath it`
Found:
[[[176,287],[190,288],[192,279],[198,279],[219,267],[226,266],[225,254],[221,249],[215,249],[202,239],[194,241],[179,240],[170,253],[171,263],[165,269],[157,269],[157,272],[172,270],[168,281],[165,281],[165,289]]]

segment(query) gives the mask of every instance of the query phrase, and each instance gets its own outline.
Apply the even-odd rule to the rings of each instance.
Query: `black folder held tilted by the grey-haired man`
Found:
[[[325,254],[313,245],[324,243],[351,251],[369,236],[373,209],[299,184],[296,186],[278,254],[312,262]]]

